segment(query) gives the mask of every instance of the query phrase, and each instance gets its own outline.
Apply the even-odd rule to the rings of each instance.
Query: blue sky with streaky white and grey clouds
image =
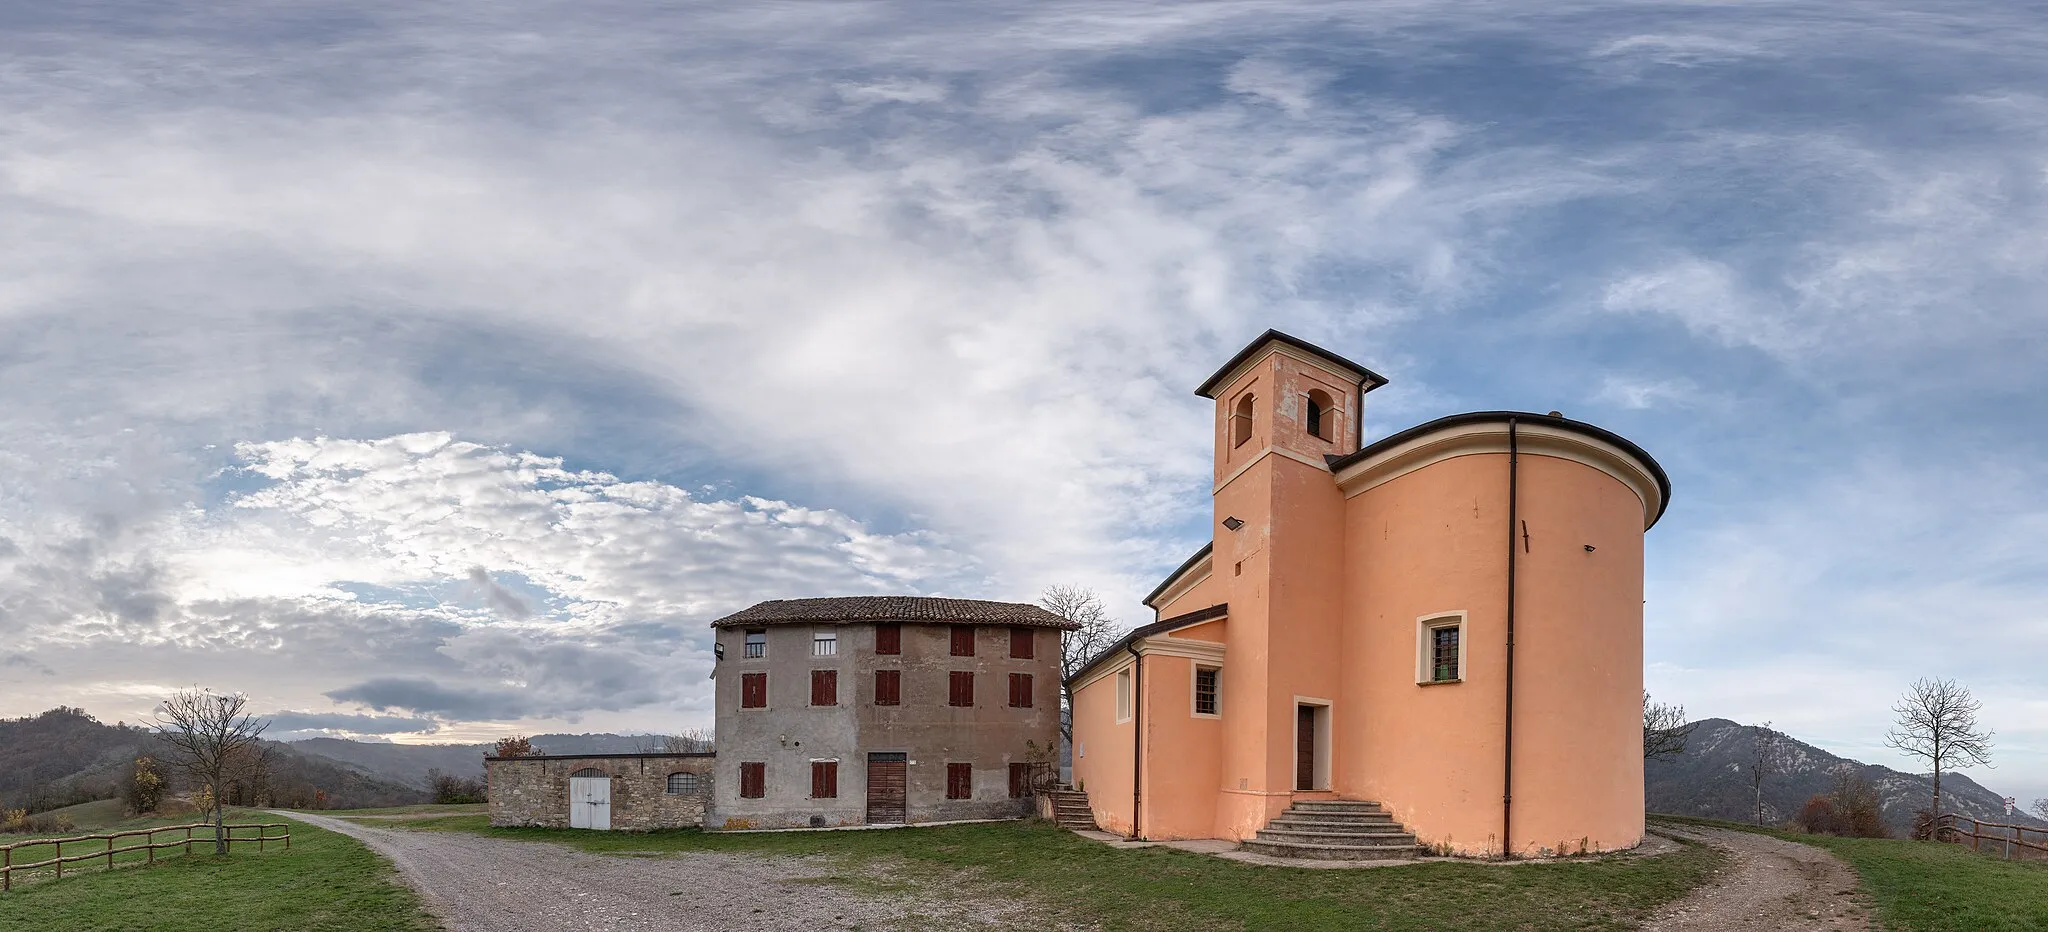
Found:
[[[1126,623],[1266,328],[1651,451],[1647,682],[2048,797],[2030,4],[0,6],[0,715],[711,723],[764,598]]]

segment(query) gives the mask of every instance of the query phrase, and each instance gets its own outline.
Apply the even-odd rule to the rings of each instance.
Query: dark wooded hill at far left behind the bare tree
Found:
[[[326,805],[334,809],[424,803],[418,787],[307,754],[287,744],[270,750],[268,799],[274,805]],[[0,807],[49,811],[121,793],[137,756],[170,760],[154,733],[133,725],[106,725],[82,709],[57,707],[41,715],[0,719]],[[172,791],[184,791],[164,766]]]

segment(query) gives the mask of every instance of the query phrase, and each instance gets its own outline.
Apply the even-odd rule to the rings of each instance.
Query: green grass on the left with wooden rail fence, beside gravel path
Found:
[[[240,815],[246,821],[274,817]],[[182,836],[182,832],[180,832]],[[70,852],[72,846],[66,846]],[[154,866],[86,869],[0,895],[0,932],[428,932],[438,928],[391,866],[352,838],[291,825],[291,850],[254,846],[221,858],[158,852]],[[16,852],[20,854],[20,852]],[[90,873],[88,873],[90,871]]]

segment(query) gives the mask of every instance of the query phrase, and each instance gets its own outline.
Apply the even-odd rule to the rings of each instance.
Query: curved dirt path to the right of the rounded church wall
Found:
[[[1714,883],[1663,907],[1653,932],[1868,930],[1855,871],[1833,854],[1751,832],[1657,823],[1653,832],[1729,852]]]

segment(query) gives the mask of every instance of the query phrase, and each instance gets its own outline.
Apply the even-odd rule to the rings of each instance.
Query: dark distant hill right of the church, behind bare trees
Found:
[[[1755,819],[1755,795],[1749,787],[1747,768],[1755,756],[1755,742],[1757,729],[1751,725],[1729,719],[1702,719],[1686,744],[1686,754],[1673,760],[1642,764],[1642,789],[1649,811],[1737,821]],[[1806,799],[1827,793],[1835,785],[1835,772],[1843,766],[1858,768],[1864,780],[1878,791],[1884,823],[1898,838],[1907,836],[1913,813],[1925,809],[1933,795],[1933,778],[1927,774],[1903,774],[1888,766],[1837,758],[1792,737],[1786,737],[1786,748],[1790,756],[1788,772],[1772,774],[1763,780],[1765,821],[1792,819],[1806,805]],[[2048,821],[2030,817],[2017,809],[2007,817],[2005,799],[1964,774],[1942,774],[1942,811],[1987,821],[2048,828]]]

